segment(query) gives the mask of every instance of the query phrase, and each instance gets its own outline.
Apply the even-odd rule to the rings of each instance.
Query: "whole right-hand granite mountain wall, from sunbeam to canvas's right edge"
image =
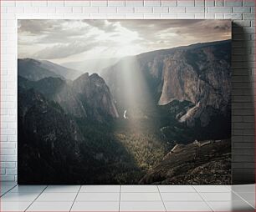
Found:
[[[122,104],[123,99],[120,97],[125,96],[125,92],[120,89],[122,73],[125,71],[123,67],[134,78],[132,87],[140,88],[138,83],[141,82],[136,81],[140,73],[156,104],[164,106],[174,100],[188,101],[193,106],[186,113],[177,114],[177,120],[188,127],[194,127],[197,122],[205,127],[212,116],[229,114],[230,51],[231,41],[228,40],[142,53],[126,58],[126,61],[123,58],[105,69],[103,77],[117,104]],[[133,65],[129,66],[127,61],[132,61]],[[140,93],[136,101],[148,96],[148,93],[143,93],[143,89],[137,89],[136,92]]]

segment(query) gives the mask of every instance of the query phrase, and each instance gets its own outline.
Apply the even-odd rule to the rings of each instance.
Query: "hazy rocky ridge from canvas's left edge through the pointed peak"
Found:
[[[76,118],[95,119],[100,122],[108,118],[118,118],[110,90],[98,74],[89,76],[84,73],[69,83],[61,78],[29,81],[18,77],[18,83],[22,88],[34,88],[49,100],[59,103],[66,114]]]

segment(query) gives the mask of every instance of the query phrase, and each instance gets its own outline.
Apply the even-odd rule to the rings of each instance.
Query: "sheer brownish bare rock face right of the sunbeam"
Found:
[[[225,114],[231,93],[231,73],[228,56],[219,58],[218,48],[205,47],[178,50],[165,59],[160,105],[179,101],[190,101],[196,106],[183,115],[181,122],[194,126],[195,119],[201,125],[209,122],[207,107]]]

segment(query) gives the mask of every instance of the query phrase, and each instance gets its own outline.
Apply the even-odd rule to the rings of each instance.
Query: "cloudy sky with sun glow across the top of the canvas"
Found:
[[[69,63],[230,38],[228,20],[18,20],[18,58]]]

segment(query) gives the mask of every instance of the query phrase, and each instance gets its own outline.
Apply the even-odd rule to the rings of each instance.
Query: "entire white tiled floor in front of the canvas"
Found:
[[[254,211],[255,185],[16,185],[0,211]]]

